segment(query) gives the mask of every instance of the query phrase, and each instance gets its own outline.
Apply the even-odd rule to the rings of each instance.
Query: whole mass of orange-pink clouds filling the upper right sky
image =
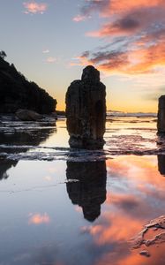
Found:
[[[107,38],[109,46],[83,53],[80,64],[90,63],[103,72],[126,74],[156,72],[158,66],[165,66],[164,1],[85,1],[79,17],[87,18],[94,11],[106,21],[87,35]]]

